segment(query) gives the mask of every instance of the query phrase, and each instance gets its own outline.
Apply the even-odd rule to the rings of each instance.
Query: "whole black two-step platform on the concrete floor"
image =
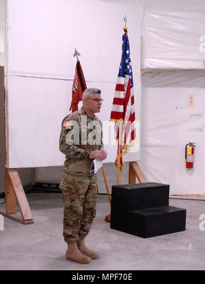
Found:
[[[111,228],[146,238],[185,230],[185,224],[186,210],[169,206],[169,185],[112,187]]]

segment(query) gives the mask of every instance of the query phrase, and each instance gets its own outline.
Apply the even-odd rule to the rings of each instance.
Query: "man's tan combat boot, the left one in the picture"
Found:
[[[76,241],[68,243],[68,250],[66,251],[66,259],[70,259],[78,263],[90,263],[91,261],[90,257],[87,257],[87,255],[83,255],[83,253],[80,252],[79,248],[77,247]]]

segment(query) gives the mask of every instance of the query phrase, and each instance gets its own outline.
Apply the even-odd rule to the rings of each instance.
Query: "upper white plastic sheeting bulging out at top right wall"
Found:
[[[143,69],[205,68],[205,1],[145,0]]]

